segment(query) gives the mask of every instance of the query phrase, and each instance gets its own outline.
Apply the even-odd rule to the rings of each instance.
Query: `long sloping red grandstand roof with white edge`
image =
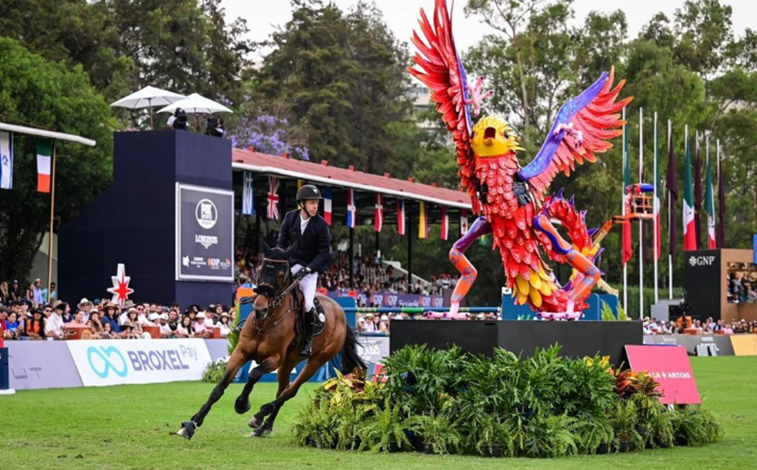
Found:
[[[463,191],[364,173],[352,167],[338,168],[324,163],[311,163],[242,149],[233,149],[232,167],[236,170],[298,178],[316,184],[381,193],[459,209],[471,207],[470,198]]]

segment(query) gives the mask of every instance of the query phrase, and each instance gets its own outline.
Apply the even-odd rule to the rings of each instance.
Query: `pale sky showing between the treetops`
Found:
[[[332,1],[343,10],[348,10],[357,3],[357,0]],[[418,24],[419,10],[424,8],[430,11],[434,0],[375,0],[375,3],[384,13],[384,19],[394,35],[409,42],[412,30]],[[491,29],[481,24],[476,17],[465,17],[463,6],[466,3],[466,0],[457,0],[452,11],[455,41],[461,51],[467,50],[487,32],[491,32]],[[668,18],[672,18],[674,11],[683,3],[684,0],[575,0],[575,21],[577,24],[582,23],[591,11],[609,13],[622,9],[626,13],[629,37],[635,37],[654,14],[662,11]],[[757,1],[721,0],[721,3],[733,8],[731,21],[736,36],[742,35],[747,27],[757,28]],[[221,5],[226,9],[228,20],[237,17],[247,20],[249,38],[255,41],[267,39],[276,26],[283,26],[292,18],[289,0],[222,0]],[[253,57],[253,60],[259,59],[259,53]]]

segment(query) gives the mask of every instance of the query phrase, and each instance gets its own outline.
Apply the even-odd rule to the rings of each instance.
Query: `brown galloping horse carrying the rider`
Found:
[[[313,353],[310,357],[300,356],[302,335],[296,333],[296,316],[300,315],[299,289],[292,281],[287,251],[270,249],[264,245],[265,256],[260,267],[257,296],[253,301],[253,312],[247,317],[239,335],[239,343],[231,354],[223,377],[210,393],[208,400],[189,421],[181,423],[177,434],[191,439],[196,429],[202,426],[210,408],[217,402],[243,364],[254,360],[257,367],[250,372],[242,393],[234,403],[234,410],[244,414],[250,410],[250,393],[263,374],[278,369],[279,388],[276,399],[263,405],[249,421],[254,429],[253,436],[261,437],[273,430],[273,423],[282,405],[297,394],[300,386],[340,352],[342,371],[366,368],[357,354],[357,340],[352,329],[347,326],[344,310],[333,300],[319,296],[326,315],[323,332],[313,339]],[[307,359],[305,367],[290,384],[292,369]],[[267,417],[267,419],[266,419]]]

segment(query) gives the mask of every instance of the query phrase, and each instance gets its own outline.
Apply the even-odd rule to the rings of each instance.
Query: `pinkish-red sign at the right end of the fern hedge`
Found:
[[[683,346],[626,346],[634,372],[647,372],[660,383],[664,405],[702,403],[691,362]]]

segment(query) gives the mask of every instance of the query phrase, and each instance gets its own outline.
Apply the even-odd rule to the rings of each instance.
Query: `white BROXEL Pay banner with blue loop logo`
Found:
[[[66,341],[85,387],[200,380],[202,339]]]

